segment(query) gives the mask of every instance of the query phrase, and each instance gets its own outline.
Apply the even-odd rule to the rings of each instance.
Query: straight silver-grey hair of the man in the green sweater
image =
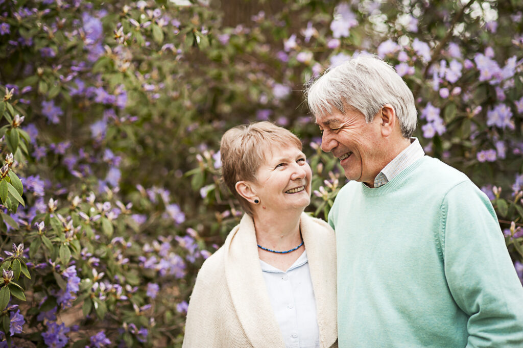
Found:
[[[390,104],[404,137],[410,137],[416,129],[412,91],[394,68],[376,55],[360,54],[328,69],[305,94],[314,117],[330,114],[332,108],[342,113],[349,108],[361,112],[369,123],[385,104]]]

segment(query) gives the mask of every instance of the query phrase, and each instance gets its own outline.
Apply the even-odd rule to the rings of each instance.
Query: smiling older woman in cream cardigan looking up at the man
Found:
[[[246,214],[198,273],[184,347],[337,347],[335,236],[303,213],[301,149],[269,122],[223,135],[223,179]]]

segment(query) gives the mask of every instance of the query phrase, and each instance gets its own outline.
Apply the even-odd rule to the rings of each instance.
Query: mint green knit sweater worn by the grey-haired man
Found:
[[[523,347],[523,287],[463,173],[425,156],[380,188],[350,181],[329,224],[340,347]]]

